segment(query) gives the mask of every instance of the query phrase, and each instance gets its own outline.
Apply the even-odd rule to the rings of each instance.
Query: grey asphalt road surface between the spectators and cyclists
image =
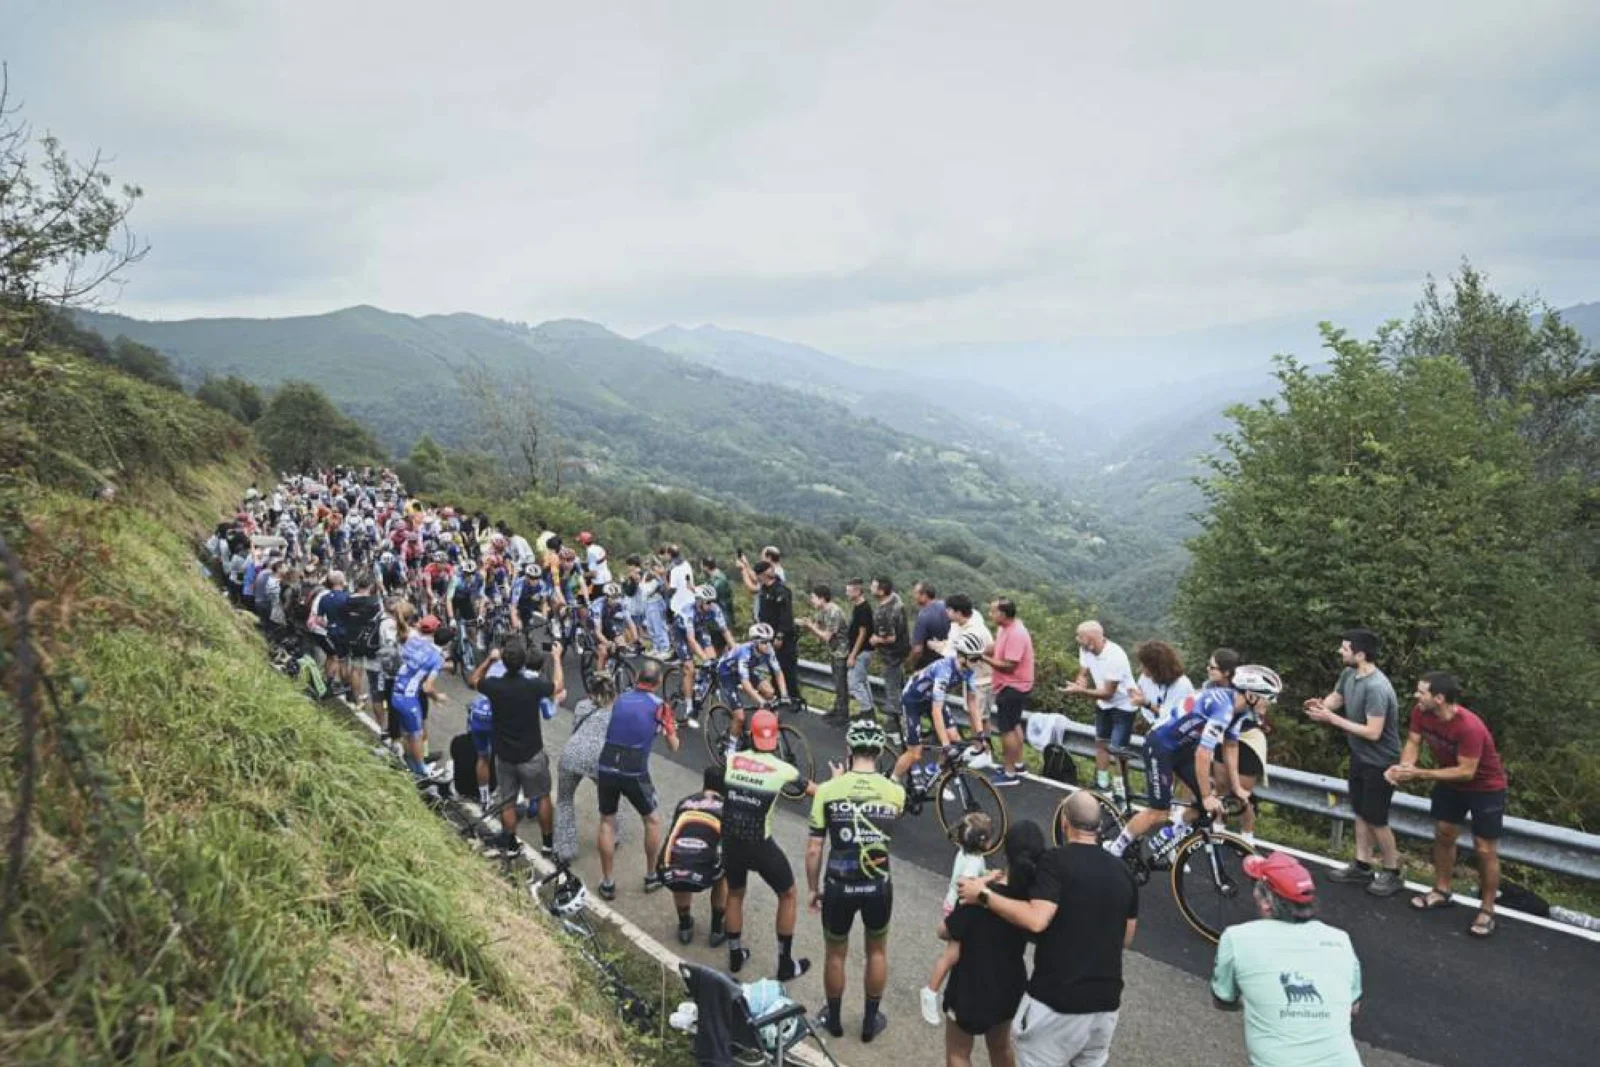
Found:
[[[570,672],[570,683],[573,672]],[[453,678],[443,680],[453,702],[440,705],[434,726],[434,747],[462,729],[464,689]],[[573,686],[576,691],[576,686]],[[562,715],[547,725],[552,753],[560,750],[570,726]],[[840,758],[843,736],[813,715],[794,715],[811,742],[819,766]],[[446,733],[448,731],[448,733]],[[683,749],[669,753],[656,745],[653,777],[670,805],[699,789],[699,774],[710,763],[702,734],[690,731]],[[589,845],[597,816],[592,789],[579,792],[579,832],[584,854],[579,870],[589,885],[598,883],[598,862]],[[1058,790],[1024,782],[1006,792],[1013,821],[1034,819],[1048,825]],[[675,918],[670,896],[645,896],[640,889],[643,856],[640,829],[634,816],[619,819],[627,841],[619,846],[616,907],[674,952]],[[803,891],[805,814],[802,805],[782,803],[774,833],[795,865]],[[525,824],[526,825],[526,824]],[[835,1041],[837,1054],[853,1065],[938,1064],[942,1062],[939,1030],[920,1021],[917,990],[926,981],[938,952],[933,929],[939,897],[949,878],[950,848],[931,811],[902,819],[894,837],[894,933],[891,937],[891,979],[885,1009],[893,1024],[878,1043],[862,1046],[851,1025],[859,1022],[859,936],[851,950],[850,985],[845,1001],[846,1037]],[[1448,1064],[1461,1067],[1502,1067],[1507,1064],[1595,1064],[1600,1062],[1600,945],[1568,934],[1525,923],[1501,923],[1499,934],[1486,942],[1469,939],[1470,912],[1450,909],[1427,915],[1413,913],[1406,896],[1376,901],[1360,889],[1323,885],[1323,918],[1350,933],[1362,958],[1366,1000],[1355,1024],[1368,1064]],[[803,905],[802,905],[803,907]],[[686,958],[726,965],[723,952],[704,942],[706,905],[698,918],[699,937]],[[747,896],[746,944],[755,952],[757,974],[776,963],[771,933],[773,896],[752,880]],[[819,1005],[822,939],[814,917],[802,912],[795,936],[797,955],[810,955],[816,969],[792,985],[794,995]],[[1163,881],[1152,881],[1141,899],[1139,933],[1126,960],[1126,995],[1117,1033],[1114,1061],[1128,1064],[1165,1062],[1178,1056],[1195,1062],[1245,1062],[1238,1016],[1210,1006],[1206,977],[1213,945],[1184,923]],[[1584,1008],[1584,1005],[1589,1008]],[[1184,1053],[1178,1053],[1184,1049]]]

